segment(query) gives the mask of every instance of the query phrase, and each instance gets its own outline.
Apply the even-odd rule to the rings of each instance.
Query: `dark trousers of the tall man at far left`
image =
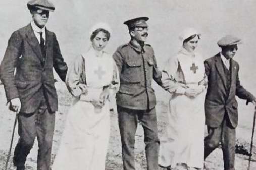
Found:
[[[49,170],[55,127],[55,112],[50,112],[46,101],[42,101],[35,112],[18,115],[20,139],[14,151],[14,165],[24,169],[27,155],[33,147],[35,137],[38,141],[37,170]]]

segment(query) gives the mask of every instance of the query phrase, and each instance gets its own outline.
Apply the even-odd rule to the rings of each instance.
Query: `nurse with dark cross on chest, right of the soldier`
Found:
[[[163,70],[163,82],[170,85],[171,97],[159,164],[170,169],[201,169],[207,79],[203,59],[194,51],[200,34],[189,28],[182,32],[180,39],[182,48]]]

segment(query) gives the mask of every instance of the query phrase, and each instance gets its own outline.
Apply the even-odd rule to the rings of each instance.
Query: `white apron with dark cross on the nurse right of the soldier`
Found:
[[[179,53],[177,60],[186,85],[197,86],[204,78],[203,60],[200,55],[192,57]],[[191,167],[203,167],[205,95],[206,93],[202,92],[193,99],[185,95],[170,98],[167,136],[161,140],[159,164],[175,167],[177,163],[186,163]]]

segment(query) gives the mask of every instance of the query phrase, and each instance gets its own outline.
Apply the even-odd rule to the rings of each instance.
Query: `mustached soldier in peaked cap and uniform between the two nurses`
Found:
[[[148,36],[147,17],[125,21],[131,40],[117,48],[113,55],[119,69],[120,89],[116,95],[122,141],[124,170],[135,169],[134,143],[138,122],[144,130],[147,169],[158,169],[159,138],[156,96],[152,79],[162,85],[153,48],[145,44]]]

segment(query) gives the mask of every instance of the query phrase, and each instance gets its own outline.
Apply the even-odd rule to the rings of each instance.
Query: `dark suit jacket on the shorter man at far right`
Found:
[[[227,112],[231,125],[234,128],[237,127],[238,113],[235,95],[248,101],[254,100],[254,96],[240,85],[238,63],[231,59],[231,84],[228,93],[226,93],[227,80],[220,53],[204,61],[204,67],[208,76],[208,89],[204,103],[206,125],[213,128],[219,127]]]

